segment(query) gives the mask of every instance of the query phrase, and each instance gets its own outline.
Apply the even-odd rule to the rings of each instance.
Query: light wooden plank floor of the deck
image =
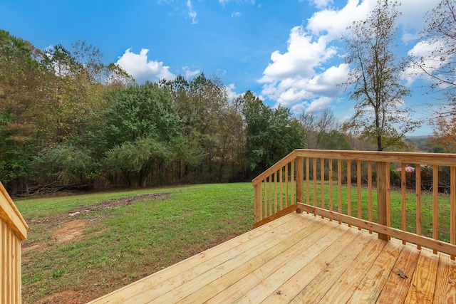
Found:
[[[456,263],[292,213],[91,303],[456,303]]]

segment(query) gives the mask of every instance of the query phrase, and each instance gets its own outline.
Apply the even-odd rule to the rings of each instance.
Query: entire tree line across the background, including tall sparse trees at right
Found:
[[[340,85],[356,100],[343,125],[331,110],[293,117],[252,91],[230,100],[221,80],[204,73],[138,84],[86,42],[39,50],[0,30],[0,181],[14,195],[238,182],[296,148],[404,149],[420,121],[402,106],[410,91],[400,83],[405,61],[392,51],[398,6],[378,0],[343,37],[351,73]],[[434,120],[439,152],[456,151],[454,8],[442,0],[423,31],[427,43],[448,46],[435,51],[440,64],[407,61],[435,80],[432,88],[445,88],[449,102]]]

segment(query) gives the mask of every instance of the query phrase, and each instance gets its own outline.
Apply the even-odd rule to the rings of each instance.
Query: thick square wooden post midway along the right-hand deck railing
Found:
[[[388,189],[390,187],[390,164],[377,162],[378,224],[388,226]],[[378,233],[378,239],[388,241],[387,234]]]

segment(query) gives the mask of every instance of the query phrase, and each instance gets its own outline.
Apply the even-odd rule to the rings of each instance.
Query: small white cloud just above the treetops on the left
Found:
[[[138,83],[145,83],[146,80],[157,81],[166,78],[172,80],[176,76],[170,72],[170,67],[163,65],[160,61],[148,61],[147,48],[142,48],[139,54],[135,54],[128,48],[121,56],[117,64],[128,74],[132,75]]]

